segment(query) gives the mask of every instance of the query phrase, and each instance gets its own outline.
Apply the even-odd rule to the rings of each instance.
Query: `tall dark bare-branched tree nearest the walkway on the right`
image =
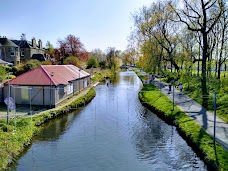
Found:
[[[177,22],[184,23],[187,28],[196,33],[201,33],[202,36],[202,96],[203,106],[207,107],[208,105],[208,89],[207,89],[207,59],[210,56],[209,51],[209,42],[208,36],[212,32],[212,29],[215,27],[216,23],[219,21],[219,18],[223,12],[223,2],[219,0],[183,0],[183,8],[177,9],[172,4],[171,8],[175,11],[178,20]]]

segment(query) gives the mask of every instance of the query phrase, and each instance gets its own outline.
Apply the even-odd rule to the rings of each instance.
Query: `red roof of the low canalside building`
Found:
[[[79,71],[80,70],[80,71]],[[12,85],[59,85],[87,77],[90,74],[74,65],[42,65],[10,81]]]

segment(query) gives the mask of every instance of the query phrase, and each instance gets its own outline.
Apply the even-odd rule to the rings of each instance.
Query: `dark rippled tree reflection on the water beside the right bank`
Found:
[[[207,170],[174,126],[146,108],[141,111],[141,121],[143,124],[134,126],[132,139],[138,158],[153,165],[153,170]]]

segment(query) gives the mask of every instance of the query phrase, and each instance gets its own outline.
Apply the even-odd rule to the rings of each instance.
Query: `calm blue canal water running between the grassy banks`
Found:
[[[132,71],[96,87],[84,108],[44,125],[11,170],[207,170],[191,147],[138,100]]]

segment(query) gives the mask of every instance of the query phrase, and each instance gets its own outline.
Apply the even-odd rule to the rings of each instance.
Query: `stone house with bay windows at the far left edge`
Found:
[[[17,65],[20,63],[20,48],[6,37],[0,37],[0,59]]]

